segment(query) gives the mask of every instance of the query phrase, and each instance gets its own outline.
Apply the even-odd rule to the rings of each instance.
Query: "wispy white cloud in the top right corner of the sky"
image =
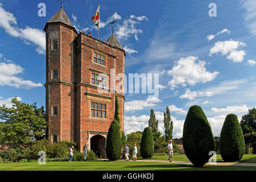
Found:
[[[255,0],[242,0],[242,9],[245,10],[245,24],[251,34],[256,35],[256,2]]]

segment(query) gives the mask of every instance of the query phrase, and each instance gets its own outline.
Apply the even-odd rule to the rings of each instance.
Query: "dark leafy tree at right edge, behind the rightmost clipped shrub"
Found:
[[[242,116],[241,127],[243,134],[253,133],[256,131],[256,109],[249,109],[249,112]]]

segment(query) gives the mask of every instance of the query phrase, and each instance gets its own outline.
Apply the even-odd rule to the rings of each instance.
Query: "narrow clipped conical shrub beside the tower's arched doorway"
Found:
[[[121,134],[118,127],[119,123],[114,119],[108,131],[106,139],[106,157],[109,160],[117,160],[121,153]]]

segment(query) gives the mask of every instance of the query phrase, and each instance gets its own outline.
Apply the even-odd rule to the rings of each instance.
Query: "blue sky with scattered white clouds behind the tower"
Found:
[[[46,4],[46,17],[38,4]],[[159,95],[129,93],[125,101],[125,132],[148,125],[156,111],[164,131],[163,111],[170,106],[174,138],[182,137],[192,105],[200,105],[220,135],[225,116],[240,119],[256,103],[256,2],[214,1],[101,1],[100,39],[112,34],[126,50],[125,74],[159,73]],[[98,1],[65,1],[63,8],[77,31],[97,30],[90,19]],[[45,105],[46,55],[43,28],[60,9],[55,1],[0,0],[0,104],[18,96]]]

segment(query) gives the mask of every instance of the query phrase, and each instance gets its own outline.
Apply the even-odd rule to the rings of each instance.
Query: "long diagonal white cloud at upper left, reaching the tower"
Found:
[[[46,34],[38,28],[19,28],[14,14],[3,9],[0,3],[0,27],[4,28],[6,33],[24,40],[24,43],[32,43],[37,46],[36,51],[40,54],[46,50]]]

